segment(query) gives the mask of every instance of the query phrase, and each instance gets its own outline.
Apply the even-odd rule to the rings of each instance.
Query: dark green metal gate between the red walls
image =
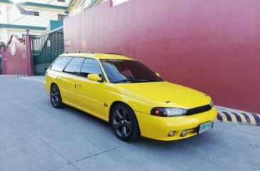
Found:
[[[63,28],[32,37],[34,75],[45,75],[50,64],[64,53]]]

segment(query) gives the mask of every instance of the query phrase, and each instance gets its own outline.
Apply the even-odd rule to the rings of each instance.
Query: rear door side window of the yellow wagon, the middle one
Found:
[[[85,58],[82,57],[74,57],[70,63],[65,68],[64,72],[68,72],[72,75],[79,75],[80,74],[80,68],[82,66],[82,62]]]

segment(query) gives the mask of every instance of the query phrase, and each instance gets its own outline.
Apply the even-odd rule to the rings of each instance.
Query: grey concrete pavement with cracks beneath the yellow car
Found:
[[[215,123],[185,140],[118,140],[109,124],[54,109],[43,77],[0,76],[0,170],[259,170],[260,127]]]

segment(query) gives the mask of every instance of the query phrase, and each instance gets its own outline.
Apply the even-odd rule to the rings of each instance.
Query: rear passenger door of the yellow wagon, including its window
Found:
[[[63,84],[64,93],[62,98],[67,104],[78,106],[79,96],[75,92],[75,87],[84,60],[83,57],[73,57],[63,70],[63,74],[58,77],[58,81]]]

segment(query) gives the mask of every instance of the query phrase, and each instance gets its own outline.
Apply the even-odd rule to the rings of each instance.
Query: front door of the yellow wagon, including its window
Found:
[[[89,74],[102,76],[99,62],[92,58],[86,58],[80,71],[80,77],[76,81],[76,92],[80,96],[80,107],[85,111],[104,118],[104,82],[93,82],[87,79]]]

